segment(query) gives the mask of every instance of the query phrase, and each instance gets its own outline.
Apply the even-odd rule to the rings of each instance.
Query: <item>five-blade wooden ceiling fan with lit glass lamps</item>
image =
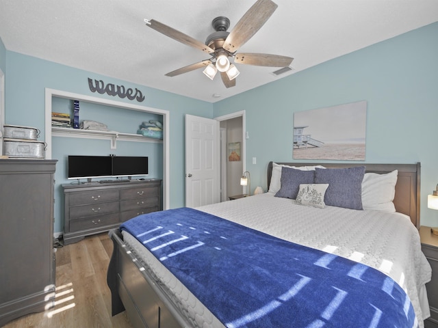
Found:
[[[175,77],[179,74],[197,70],[198,68],[205,68],[203,72],[209,79],[214,79],[219,71],[224,85],[226,87],[233,87],[235,86],[235,78],[240,73],[236,66],[231,64],[230,58],[233,59],[235,64],[255,66],[287,67],[292,63],[293,58],[281,55],[237,53],[240,46],[254,36],[274,13],[276,8],[276,3],[271,0],[257,0],[244,16],[240,18],[231,32],[227,31],[230,26],[230,20],[227,17],[219,16],[214,18],[211,25],[216,32],[211,33],[207,37],[205,44],[172,27],[159,23],[157,20],[145,19],[144,21],[152,29],[211,55],[210,59],[168,72],[166,76]]]

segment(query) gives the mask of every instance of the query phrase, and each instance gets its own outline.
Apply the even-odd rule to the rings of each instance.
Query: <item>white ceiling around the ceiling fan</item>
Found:
[[[202,69],[164,76],[209,55],[146,27],[144,18],[205,42],[213,18],[227,16],[231,31],[255,0],[0,0],[0,38],[8,51],[215,102],[438,21],[437,0],[274,2],[277,10],[239,51],[294,57],[294,70],[274,77],[279,68],[239,65],[229,89]]]

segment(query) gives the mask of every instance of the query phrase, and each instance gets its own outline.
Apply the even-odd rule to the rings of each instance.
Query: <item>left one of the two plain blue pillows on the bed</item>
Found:
[[[312,184],[315,180],[315,171],[302,171],[301,169],[281,168],[280,190],[275,197],[296,199],[300,184]]]

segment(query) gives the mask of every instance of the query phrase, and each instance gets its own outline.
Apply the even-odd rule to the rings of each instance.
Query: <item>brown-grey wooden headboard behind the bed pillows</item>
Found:
[[[365,172],[385,174],[398,169],[394,205],[399,213],[409,215],[415,227],[420,227],[420,163],[364,164],[364,163],[279,163],[290,166],[322,165],[329,168],[365,166]],[[268,189],[271,182],[272,162],[268,164]]]

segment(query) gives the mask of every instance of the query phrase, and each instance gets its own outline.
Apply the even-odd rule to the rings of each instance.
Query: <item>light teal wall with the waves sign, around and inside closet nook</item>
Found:
[[[1,49],[0,49],[1,51]],[[163,92],[160,90],[136,85],[127,81],[121,81],[112,77],[105,77],[92,72],[78,70],[51,61],[45,61],[35,57],[6,51],[7,61],[5,74],[5,124],[16,124],[22,126],[32,126],[40,129],[39,140],[44,140],[44,90],[46,87],[84,94],[99,98],[107,98],[120,102],[129,102],[135,105],[163,109],[170,112],[170,208],[184,206],[185,204],[185,184],[184,184],[184,116],[185,114],[212,118],[213,105],[192,98]],[[107,94],[97,94],[90,92],[88,87],[88,77],[101,79],[105,83],[125,85],[125,87],[137,87],[146,96],[143,102],[136,100],[120,99],[108,96]],[[102,121],[102,120],[101,120]],[[112,116],[107,115],[105,123],[117,124],[112,122]],[[117,126],[117,125],[116,125]],[[125,132],[125,131],[122,131]],[[156,148],[148,143],[127,143],[118,141],[118,149],[110,150],[109,141],[89,141],[87,139],[70,139],[64,137],[53,137],[52,158],[58,159],[57,172],[55,174],[55,232],[61,232],[64,227],[62,183],[66,180],[66,156],[77,152],[78,149],[84,152],[103,151],[103,154],[132,154],[132,151],[141,154],[153,154],[161,156],[162,148]],[[73,146],[74,149],[73,150]],[[83,153],[85,154],[85,153]],[[155,165],[156,167],[157,165]],[[153,176],[156,174],[157,176]],[[160,176],[161,175],[161,176]],[[162,178],[162,169],[156,167],[150,178]]]

